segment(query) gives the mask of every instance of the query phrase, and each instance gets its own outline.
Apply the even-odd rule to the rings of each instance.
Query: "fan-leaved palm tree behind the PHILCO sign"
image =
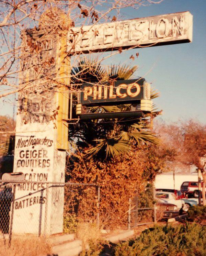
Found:
[[[98,63],[97,59],[83,58],[78,66],[72,69],[71,80],[76,90],[80,89],[81,84],[85,82],[128,79],[137,70],[137,66],[131,68],[130,65],[113,65],[104,69],[101,63],[96,63]],[[153,92],[152,97],[157,97],[157,93]],[[121,104],[91,107],[90,111],[93,113],[120,112],[130,108],[131,104]],[[159,143],[159,139],[150,130],[148,119],[140,118],[80,120],[77,124],[69,126],[69,140],[71,139],[80,150],[85,152],[87,159],[114,158],[127,152],[131,146],[141,146],[149,142]]]

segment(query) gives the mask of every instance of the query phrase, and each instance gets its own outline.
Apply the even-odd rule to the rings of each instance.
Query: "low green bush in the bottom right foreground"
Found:
[[[134,240],[119,243],[114,256],[205,256],[206,228],[196,223],[158,226]]]

